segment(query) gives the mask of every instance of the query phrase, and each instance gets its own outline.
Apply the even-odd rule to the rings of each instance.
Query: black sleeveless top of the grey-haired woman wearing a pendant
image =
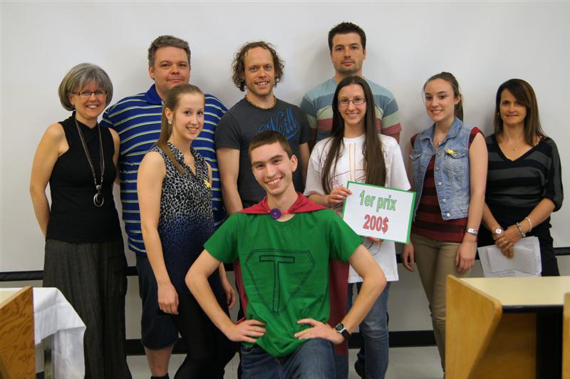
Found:
[[[122,239],[113,199],[113,182],[116,175],[113,136],[107,128],[100,127],[105,159],[101,193],[105,201],[101,207],[95,207],[93,196],[97,192],[93,184],[93,173],[77,131],[75,112],[60,124],[66,133],[69,150],[58,157],[49,179],[51,213],[46,238],[66,242],[108,242]],[[78,125],[85,135],[99,183],[101,174],[97,128],[90,129],[80,122]]]

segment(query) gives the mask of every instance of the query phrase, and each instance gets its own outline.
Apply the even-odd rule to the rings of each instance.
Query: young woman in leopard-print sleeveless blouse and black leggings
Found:
[[[187,346],[175,378],[224,377],[235,348],[209,321],[185,284],[190,266],[214,232],[212,169],[190,145],[204,125],[204,94],[181,84],[167,93],[157,145],[138,171],[142,239],[158,285],[160,310],[172,314]],[[209,277],[217,301],[235,301],[224,266]]]

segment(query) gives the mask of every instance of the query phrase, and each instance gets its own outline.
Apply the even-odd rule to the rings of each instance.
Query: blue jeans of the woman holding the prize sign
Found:
[[[362,283],[356,284],[360,292]],[[368,315],[359,326],[363,339],[363,346],[356,356],[358,365],[365,368],[366,379],[383,379],[388,370],[388,294],[390,282],[372,306]],[[352,286],[348,285],[347,310],[352,306]],[[347,362],[348,365],[348,362]]]

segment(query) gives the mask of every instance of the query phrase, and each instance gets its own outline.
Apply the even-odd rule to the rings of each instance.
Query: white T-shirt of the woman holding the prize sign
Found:
[[[382,152],[384,154],[384,162],[386,165],[386,184],[385,187],[395,188],[397,190],[410,190],[410,182],[406,175],[402,152],[400,145],[393,137],[387,135],[378,135],[382,144]],[[309,170],[307,172],[307,181],[305,185],[305,196],[311,194],[322,194],[325,192],[321,185],[322,170],[325,164],[326,155],[330,150],[331,137],[317,142],[311,159],[309,160]],[[364,135],[356,138],[343,138],[343,147],[341,149],[341,157],[336,163],[336,171],[331,180],[331,188],[344,186],[348,181],[365,182],[364,157],[362,155],[362,145],[364,143]],[[331,168],[332,170],[332,168]],[[338,215],[341,215],[343,204],[338,204],[333,209]],[[378,262],[386,279],[388,281],[398,280],[398,264],[396,263],[396,251],[393,241],[371,242],[370,239],[364,239],[363,245],[366,246],[374,259]],[[361,276],[351,267],[348,274],[348,283],[356,283],[362,281]]]

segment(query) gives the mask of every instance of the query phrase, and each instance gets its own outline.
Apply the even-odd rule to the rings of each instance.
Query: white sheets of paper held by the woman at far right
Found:
[[[507,258],[496,245],[482,246],[479,258],[484,276],[540,276],[539,239],[526,237],[514,244],[512,258]]]

